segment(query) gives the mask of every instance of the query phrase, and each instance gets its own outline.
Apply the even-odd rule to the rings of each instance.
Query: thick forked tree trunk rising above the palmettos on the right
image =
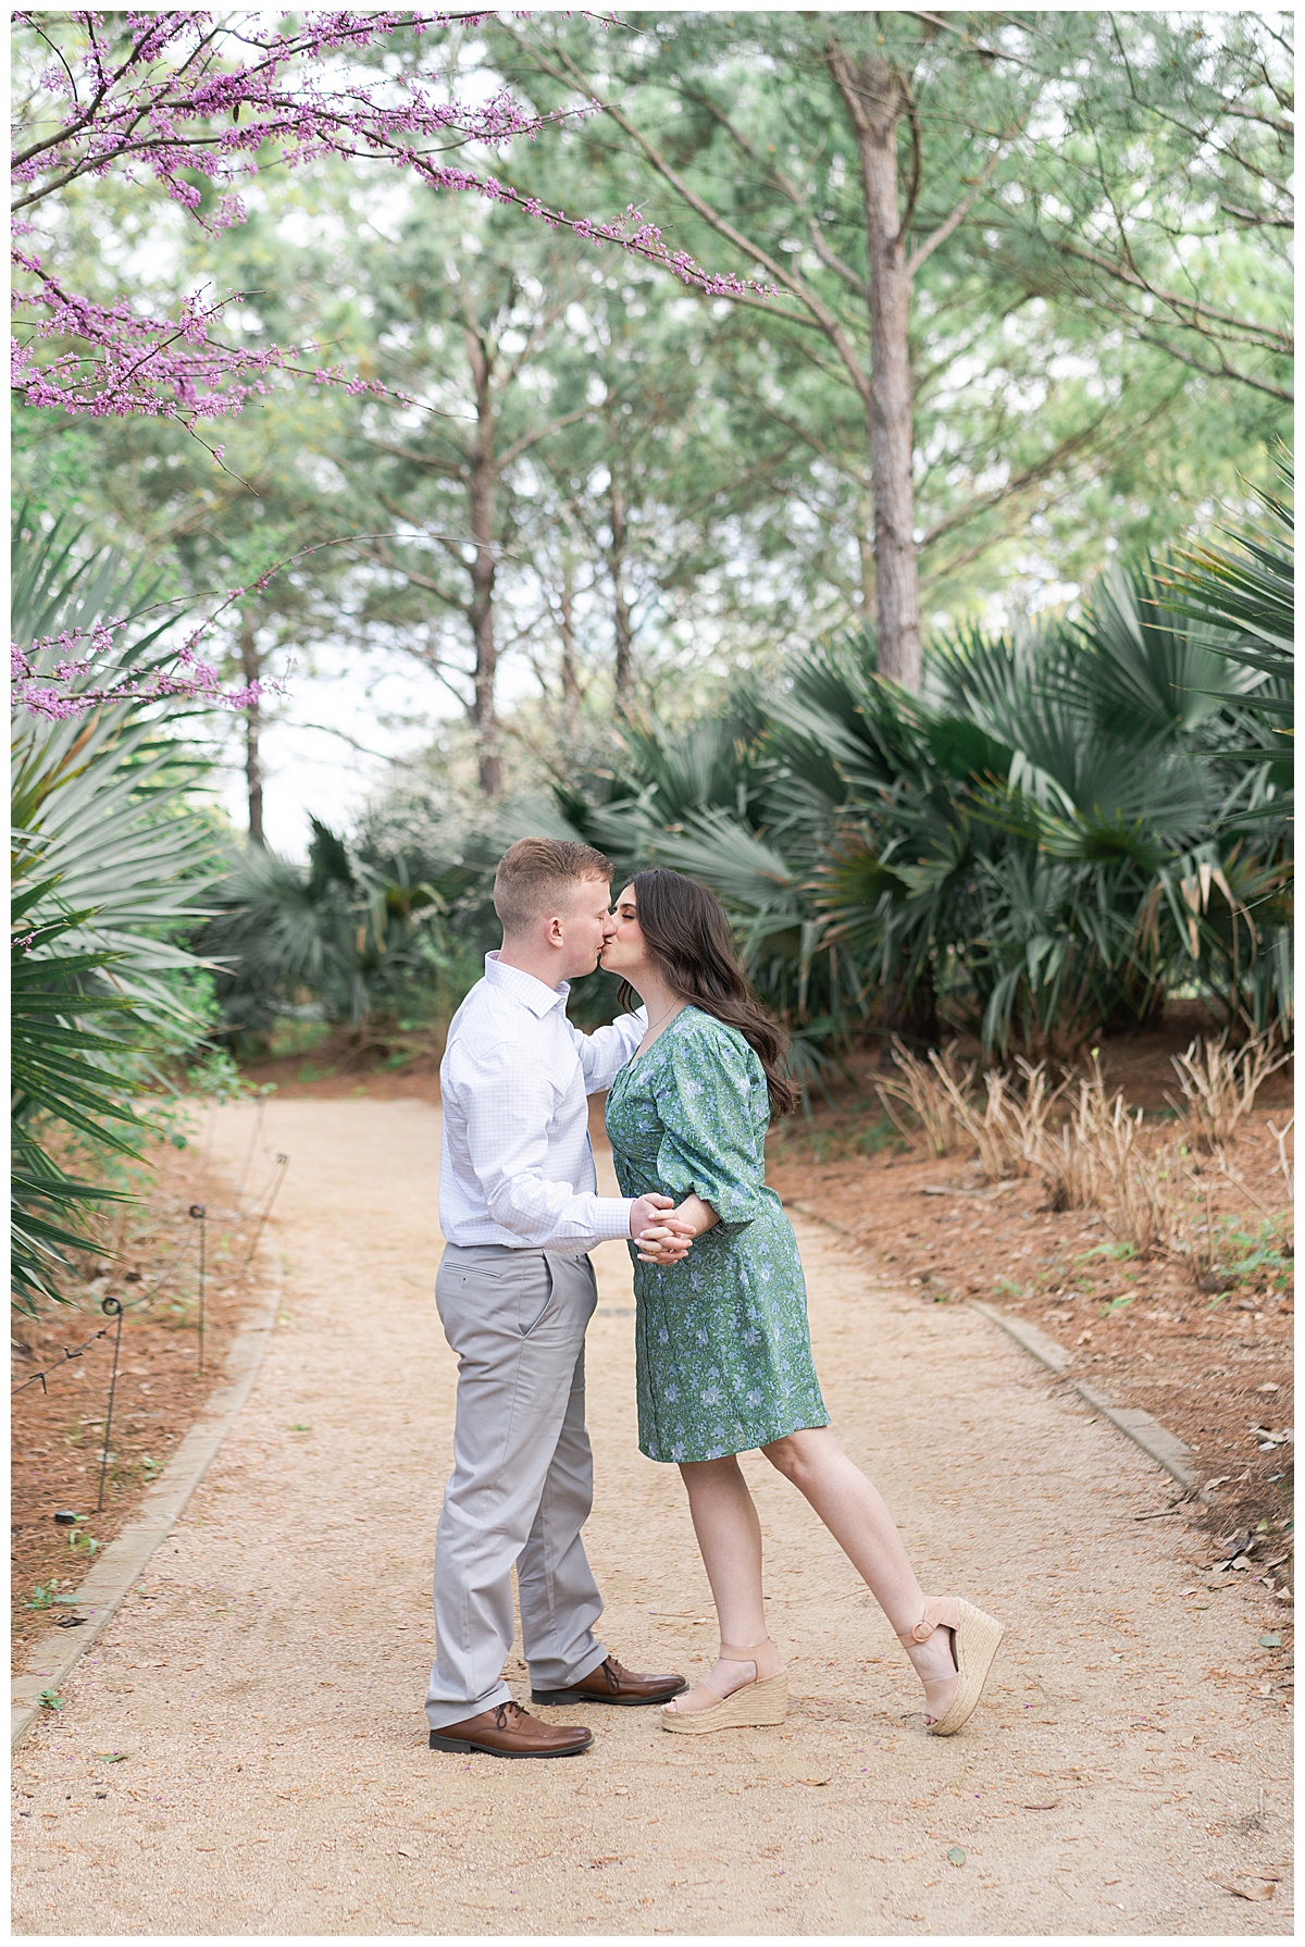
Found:
[[[898,208],[898,123],[902,78],[886,60],[830,51],[830,72],[847,105],[861,160],[871,312],[867,422],[875,483],[875,594],[878,670],[919,689],[919,586],[915,574],[915,485],[910,315],[912,278]]]

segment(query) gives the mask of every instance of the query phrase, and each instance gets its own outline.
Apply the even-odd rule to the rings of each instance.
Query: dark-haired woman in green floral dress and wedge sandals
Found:
[[[925,1688],[925,1723],[958,1731],[980,1700],[1001,1624],[956,1597],[925,1598],[888,1509],[841,1451],[806,1334],[793,1227],[765,1188],[771,1108],[791,1114],[783,1038],[734,958],[717,898],[680,872],[639,872],[615,901],[602,966],[649,1010],[608,1096],[627,1197],[662,1192],[693,1232],[635,1254],[639,1447],[674,1460],[721,1624],[721,1655],[662,1708],[668,1731],[783,1723],[787,1676],[765,1634],[762,1528],[738,1468],[760,1447],[806,1495],[865,1579]]]

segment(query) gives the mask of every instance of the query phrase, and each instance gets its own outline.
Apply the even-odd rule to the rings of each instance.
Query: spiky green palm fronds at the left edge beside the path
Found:
[[[152,588],[113,551],[78,551],[21,510],[14,530],[14,637],[29,646],[105,615],[136,615]],[[158,627],[129,633],[119,666],[148,670]],[[45,652],[47,666],[56,658]],[[177,933],[199,913],[208,835],[185,806],[195,763],[136,701],[82,718],[19,715],[12,748],[12,1287],[23,1310],[60,1299],[90,1213],[125,1195],[111,1158],[138,1158],[156,1123],[132,1096],[205,1032],[185,991],[197,962]],[[90,1174],[66,1168],[70,1155]]]

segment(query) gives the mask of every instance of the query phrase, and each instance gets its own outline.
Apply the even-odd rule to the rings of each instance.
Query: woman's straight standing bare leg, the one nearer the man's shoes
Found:
[[[732,1649],[760,1649],[765,1635],[765,1602],[762,1598],[762,1523],[742,1478],[738,1460],[684,1460],[680,1474],[690,1495],[693,1534],[703,1556],[711,1597],[717,1604],[721,1643]],[[765,1669],[762,1665],[767,1665]],[[719,1657],[711,1674],[717,1688],[695,1684],[668,1709],[709,1709],[721,1696],[736,1690],[754,1674],[769,1676],[779,1669],[779,1655]]]

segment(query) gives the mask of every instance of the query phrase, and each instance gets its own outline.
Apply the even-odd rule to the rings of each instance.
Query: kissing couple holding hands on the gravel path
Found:
[[[637,872],[615,903],[588,845],[520,839],[499,863],[503,946],[458,1009],[444,1061],[436,1277],[458,1355],[454,1470],[434,1544],[432,1750],[575,1756],[592,1731],[512,1698],[512,1569],[534,1704],[656,1706],[664,1731],[783,1723],[787,1676],[762,1598],[762,1528],[738,1466],[760,1449],[810,1503],[906,1647],[925,1727],[974,1711],[1001,1624],[925,1597],[884,1501],[830,1429],[793,1227],[765,1186],[771,1114],[791,1114],[783,1034],[728,921],[680,872]],[[631,1009],[582,1034],[567,983],[594,966]],[[641,1005],[635,1007],[635,1001]],[[588,1096],[608,1090],[619,1197],[596,1194]],[[594,1634],[584,1554],[594,1466],[588,1252],[635,1260],[639,1447],[680,1468],[721,1624],[693,1688],[627,1671]]]

